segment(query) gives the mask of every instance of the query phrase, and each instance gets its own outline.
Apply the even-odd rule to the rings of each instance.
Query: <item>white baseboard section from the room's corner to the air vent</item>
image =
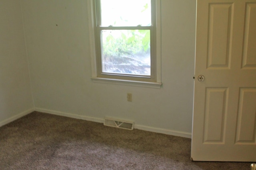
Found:
[[[104,123],[104,119],[96,118],[96,117],[90,117],[90,116],[82,116],[82,115],[75,115],[72,113],[64,113],[61,111],[54,111],[54,110],[48,110],[48,109],[42,109],[42,108],[35,108],[35,111],[39,111],[42,113],[49,113],[52,115],[59,115],[59,116],[65,116],[65,117],[71,117],[74,119],[82,119],[82,120],[87,120],[87,121],[94,121],[98,123]]]

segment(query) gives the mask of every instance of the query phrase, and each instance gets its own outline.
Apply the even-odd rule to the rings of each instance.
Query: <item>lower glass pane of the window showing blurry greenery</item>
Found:
[[[150,76],[150,30],[102,30],[102,72]]]

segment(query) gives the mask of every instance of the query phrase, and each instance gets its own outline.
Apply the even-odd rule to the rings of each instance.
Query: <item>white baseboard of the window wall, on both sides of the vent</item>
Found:
[[[96,118],[96,117],[89,117],[89,116],[82,116],[82,115],[75,115],[72,113],[64,113],[60,111],[53,111],[53,110],[48,110],[48,109],[42,109],[42,108],[35,108],[35,111],[43,112],[43,113],[50,113],[53,115],[60,115],[60,116],[65,116],[65,117],[71,117],[75,119],[82,119],[82,120],[87,120],[87,121],[94,121],[98,123],[104,123],[104,119]],[[134,129],[140,129],[143,131],[150,131],[150,132],[156,132],[156,133],[163,133],[166,135],[174,135],[174,136],[179,136],[179,137],[186,137],[191,139],[191,133],[187,132],[182,132],[182,131],[172,131],[169,129],[161,129],[161,128],[156,128],[156,127],[149,127],[149,126],[144,126],[144,125],[136,125],[134,124]]]

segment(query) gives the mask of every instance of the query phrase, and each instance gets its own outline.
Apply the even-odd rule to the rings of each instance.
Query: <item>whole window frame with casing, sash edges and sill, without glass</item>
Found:
[[[161,0],[152,0],[152,8],[153,11],[153,20],[152,25],[154,25],[155,29],[152,30],[150,28],[150,37],[153,36],[153,41],[150,42],[154,45],[151,46],[151,76],[148,78],[147,76],[127,76],[127,75],[118,75],[118,74],[102,74],[101,68],[101,56],[98,49],[99,44],[97,44],[97,36],[96,32],[99,34],[101,29],[107,29],[107,27],[100,28],[96,25],[96,0],[88,0],[88,25],[89,25],[89,38],[90,38],[90,55],[91,55],[91,65],[92,65],[92,80],[94,82],[101,83],[112,83],[112,84],[122,84],[129,86],[144,86],[151,88],[161,88],[161,28],[160,28],[160,6]],[[154,15],[155,14],[155,15]],[[140,27],[140,26],[139,26]],[[111,29],[119,29],[120,27],[111,27]],[[141,29],[141,28],[138,28]],[[153,47],[153,48],[152,48]]]

